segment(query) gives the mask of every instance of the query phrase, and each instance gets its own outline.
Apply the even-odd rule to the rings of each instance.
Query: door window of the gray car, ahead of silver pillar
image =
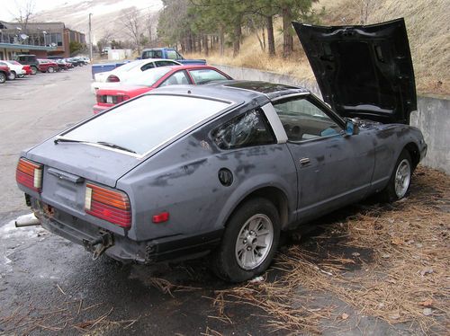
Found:
[[[275,102],[274,107],[290,141],[334,136],[342,129],[324,111],[304,98]]]

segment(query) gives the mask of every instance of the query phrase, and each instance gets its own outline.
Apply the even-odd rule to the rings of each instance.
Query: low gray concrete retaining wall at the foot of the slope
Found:
[[[245,67],[214,65],[235,79],[299,85],[321,97],[316,82],[301,80],[291,75]],[[411,125],[422,130],[428,144],[428,154],[422,164],[450,174],[450,101],[432,97],[418,98],[418,111],[411,114]]]

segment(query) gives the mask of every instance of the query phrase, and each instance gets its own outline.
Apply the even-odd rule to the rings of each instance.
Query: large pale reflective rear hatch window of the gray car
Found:
[[[62,137],[113,144],[145,155],[230,104],[197,97],[149,94],[99,114],[63,133]]]

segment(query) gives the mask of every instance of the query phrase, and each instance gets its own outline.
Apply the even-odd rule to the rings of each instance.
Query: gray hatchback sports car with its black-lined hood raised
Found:
[[[427,145],[408,125],[404,22],[294,26],[331,108],[246,81],[131,99],[23,152],[16,179],[40,224],[94,258],[212,252],[220,278],[242,281],[267,269],[281,231],[377,192],[405,196]]]

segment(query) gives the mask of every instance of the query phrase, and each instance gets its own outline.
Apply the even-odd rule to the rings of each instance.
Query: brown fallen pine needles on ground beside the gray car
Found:
[[[320,320],[336,312],[329,305],[309,308],[309,296],[300,294],[307,290],[336,296],[387,323],[444,334],[450,323],[450,179],[420,168],[413,185],[408,199],[327,225],[312,239],[313,251],[296,245],[280,254],[281,279],[219,291],[218,300],[262,308],[275,330],[320,332]],[[368,246],[370,258],[363,257]],[[355,266],[361,270],[350,270]]]

